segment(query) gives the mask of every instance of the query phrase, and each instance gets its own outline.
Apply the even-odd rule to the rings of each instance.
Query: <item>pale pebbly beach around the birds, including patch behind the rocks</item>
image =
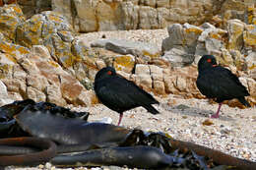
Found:
[[[88,44],[101,38],[120,38],[148,42],[161,48],[161,41],[168,36],[167,30],[117,30],[98,31],[80,35]],[[208,99],[184,99],[182,96],[169,94],[156,96],[160,111],[152,115],[142,107],[124,112],[121,126],[139,128],[144,131],[163,132],[174,139],[195,142],[221,150],[235,157],[256,161],[256,108],[239,109],[223,105],[221,117],[211,119],[217,111],[218,103],[212,104]],[[109,120],[117,125],[118,113],[102,104],[92,107],[72,107],[76,111],[90,112],[89,121]],[[207,123],[206,123],[207,122]],[[109,169],[101,167],[99,169]],[[8,167],[7,169],[58,169],[50,164],[29,167]],[[76,168],[87,169],[87,168]]]

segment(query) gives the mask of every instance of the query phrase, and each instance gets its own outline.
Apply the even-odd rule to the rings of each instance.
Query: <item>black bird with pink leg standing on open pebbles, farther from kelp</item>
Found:
[[[237,98],[243,105],[250,107],[244,96],[250,95],[238,78],[224,67],[218,66],[213,55],[204,55],[198,62],[197,87],[208,98],[215,98],[219,103],[217,113],[212,118],[219,118],[224,100]]]

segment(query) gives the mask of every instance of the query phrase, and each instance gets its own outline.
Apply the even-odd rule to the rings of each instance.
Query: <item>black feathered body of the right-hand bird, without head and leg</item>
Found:
[[[209,69],[199,75],[199,90],[210,98],[236,98],[248,95],[248,91],[238,78],[223,67]]]

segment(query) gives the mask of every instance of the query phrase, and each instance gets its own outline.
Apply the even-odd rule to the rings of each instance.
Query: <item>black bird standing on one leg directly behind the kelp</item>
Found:
[[[143,106],[149,112],[158,114],[151,104],[160,104],[150,93],[138,85],[116,74],[114,68],[105,67],[96,73],[95,91],[97,98],[109,109],[120,114],[118,126],[123,112]]]

